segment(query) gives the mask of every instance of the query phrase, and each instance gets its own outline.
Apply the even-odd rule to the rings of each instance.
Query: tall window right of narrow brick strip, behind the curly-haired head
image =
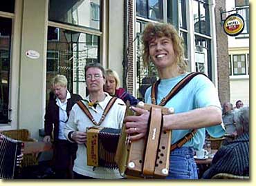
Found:
[[[185,0],[181,0],[185,8]],[[176,28],[179,27],[178,14],[179,1],[172,0],[136,0],[136,97],[143,100],[145,90],[149,85],[156,81],[158,72],[151,63],[145,68],[142,58],[141,34],[145,25],[149,22],[172,23]],[[185,14],[185,12],[184,12]],[[186,28],[185,18],[183,19],[184,28]],[[188,56],[187,50],[187,32],[182,33],[184,39],[185,55]]]

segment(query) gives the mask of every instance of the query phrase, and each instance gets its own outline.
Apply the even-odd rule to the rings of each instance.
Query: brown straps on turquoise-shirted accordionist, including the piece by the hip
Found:
[[[158,105],[164,106],[167,101],[170,101],[170,99],[172,99],[173,96],[175,96],[183,87],[185,87],[185,85],[187,85],[190,80],[192,80],[194,78],[194,76],[197,76],[199,74],[203,74],[201,72],[191,72],[190,74],[188,74],[187,76],[185,76],[183,79],[181,79],[181,81],[179,81],[179,83],[177,83],[172,90],[169,92],[169,94],[167,94],[167,96],[163,97],[163,99],[161,100],[161,102]],[[203,74],[204,76],[206,76],[205,74]],[[151,90],[151,101],[154,105],[156,105],[156,94],[157,94],[157,87],[160,83],[160,80],[156,81],[153,85],[152,85],[152,90]],[[190,141],[190,139],[194,136],[194,134],[196,134],[197,130],[194,129],[192,130],[192,132],[186,134],[183,138],[181,138],[179,141],[177,141],[176,143],[174,143],[171,146],[171,151],[176,149],[176,147],[181,147],[182,145],[184,145],[185,143],[187,143],[188,141]]]

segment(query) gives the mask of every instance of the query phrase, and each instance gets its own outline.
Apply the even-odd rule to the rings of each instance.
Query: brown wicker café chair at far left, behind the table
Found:
[[[30,132],[26,129],[20,130],[4,130],[2,134],[19,141],[37,141],[35,138],[30,138]],[[21,167],[28,167],[31,165],[38,165],[38,154],[24,154],[21,161]]]

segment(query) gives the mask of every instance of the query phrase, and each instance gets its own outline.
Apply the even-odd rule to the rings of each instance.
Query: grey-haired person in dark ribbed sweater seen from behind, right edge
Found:
[[[249,107],[242,107],[235,114],[237,138],[221,146],[204,172],[204,179],[218,173],[249,176]]]

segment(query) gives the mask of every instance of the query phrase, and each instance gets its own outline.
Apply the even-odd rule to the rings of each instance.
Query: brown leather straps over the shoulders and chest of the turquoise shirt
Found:
[[[172,88],[172,90],[170,90],[169,94],[167,94],[167,96],[163,97],[163,99],[161,100],[161,102],[158,105],[164,106],[167,103],[167,101],[170,101],[170,99],[172,99],[173,96],[175,96],[183,87],[185,87],[185,85],[187,85],[190,82],[190,80],[192,80],[194,78],[194,76],[197,76],[199,74],[203,74],[203,73],[191,72],[190,74],[185,76],[183,79],[181,79],[181,81],[179,81],[179,83],[177,83]],[[203,74],[203,75],[205,75],[205,74]],[[151,99],[152,99],[152,103],[154,105],[156,105],[157,87],[158,87],[159,83],[160,83],[160,81],[158,80],[152,85]]]

